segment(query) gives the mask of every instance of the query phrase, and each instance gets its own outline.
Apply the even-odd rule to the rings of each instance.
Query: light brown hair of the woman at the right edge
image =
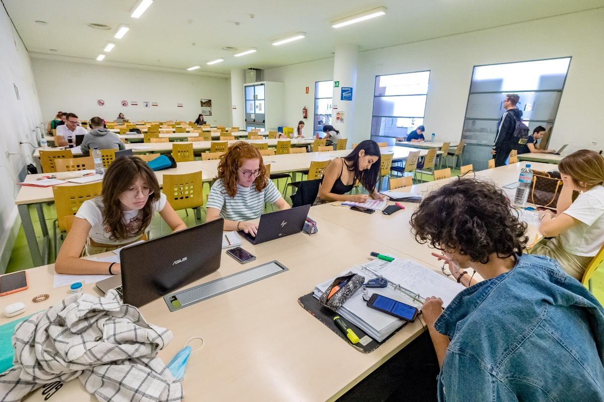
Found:
[[[558,164],[558,170],[569,175],[577,187],[585,190],[604,184],[604,158],[590,149],[579,149],[564,157]]]

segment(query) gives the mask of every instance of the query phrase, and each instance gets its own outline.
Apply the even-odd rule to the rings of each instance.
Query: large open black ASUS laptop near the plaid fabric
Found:
[[[120,250],[121,277],[97,282],[124,303],[143,306],[220,268],[223,219]],[[121,286],[120,286],[121,285]]]

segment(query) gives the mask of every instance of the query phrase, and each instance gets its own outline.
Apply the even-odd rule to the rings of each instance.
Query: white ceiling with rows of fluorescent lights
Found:
[[[105,58],[110,63],[177,69],[200,65],[197,72],[219,73],[331,57],[338,43],[355,43],[362,51],[604,7],[604,0],[154,0],[140,19],[133,19],[130,9],[136,0],[2,2],[30,52],[94,60],[112,41],[116,46]],[[380,5],[388,8],[385,16],[331,27],[332,20]],[[86,26],[91,22],[112,29],[94,30]],[[120,24],[130,25],[130,31],[114,39]],[[271,45],[300,31],[307,33],[305,39]],[[258,52],[233,57],[235,52],[223,46],[256,47]],[[217,57],[225,61],[205,64]]]

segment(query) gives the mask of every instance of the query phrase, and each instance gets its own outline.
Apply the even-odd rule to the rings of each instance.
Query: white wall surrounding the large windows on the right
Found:
[[[604,8],[364,51],[359,54],[355,125],[352,134],[345,134],[351,142],[370,136],[376,75],[430,70],[424,124],[440,140],[458,140],[475,65],[572,56],[550,148],[570,142],[570,151],[602,149],[602,49]],[[285,83],[288,121],[297,120],[306,105],[307,122],[312,124],[312,86],[314,81],[332,79],[332,71],[329,58],[269,69],[265,78]],[[305,86],[311,87],[309,95],[303,95]],[[595,129],[581,130],[579,125]]]

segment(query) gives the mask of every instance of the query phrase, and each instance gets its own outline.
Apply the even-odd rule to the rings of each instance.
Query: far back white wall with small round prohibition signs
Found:
[[[85,120],[100,116],[113,121],[121,112],[130,121],[194,121],[199,115],[199,99],[212,99],[212,116],[204,116],[205,121],[231,125],[228,78],[37,57],[32,58],[32,66],[45,122],[59,110],[76,113]],[[97,104],[98,99],[103,99],[103,106]],[[123,107],[121,101],[127,101],[128,106]],[[132,101],[138,105],[130,105]],[[158,106],[145,108],[144,101],[157,102]],[[178,107],[179,103],[183,107]]]

